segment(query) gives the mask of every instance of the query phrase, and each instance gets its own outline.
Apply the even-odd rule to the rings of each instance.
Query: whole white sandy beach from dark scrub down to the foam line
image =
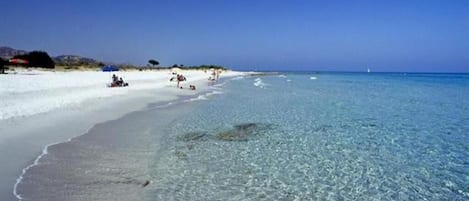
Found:
[[[114,73],[114,72],[113,72]],[[93,125],[212,89],[209,72],[182,71],[177,89],[170,71],[115,72],[130,84],[108,88],[112,73],[22,71],[0,76],[0,197],[17,200],[13,186],[48,144],[86,133]],[[228,71],[221,77],[243,73]],[[194,84],[197,90],[189,90]]]

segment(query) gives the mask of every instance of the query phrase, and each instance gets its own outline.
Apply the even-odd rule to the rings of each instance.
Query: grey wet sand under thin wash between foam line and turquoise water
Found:
[[[95,125],[82,136],[48,148],[24,175],[24,200],[142,200],[153,179],[164,128],[196,102],[150,107]],[[163,104],[164,105],[164,104]]]

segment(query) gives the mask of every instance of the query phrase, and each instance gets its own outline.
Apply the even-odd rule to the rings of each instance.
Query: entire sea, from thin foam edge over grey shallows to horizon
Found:
[[[469,74],[232,77],[50,145],[21,200],[469,200]]]

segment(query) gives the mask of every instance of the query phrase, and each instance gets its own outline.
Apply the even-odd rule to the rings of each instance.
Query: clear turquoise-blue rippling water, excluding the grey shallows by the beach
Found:
[[[469,75],[286,73],[210,99],[165,129],[149,200],[469,200]]]

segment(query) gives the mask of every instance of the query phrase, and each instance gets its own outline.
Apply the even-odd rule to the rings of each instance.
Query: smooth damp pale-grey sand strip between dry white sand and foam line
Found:
[[[243,73],[235,72],[224,77],[241,75]],[[3,173],[0,175],[3,181],[0,183],[0,188],[2,188],[0,197],[6,200],[21,198],[16,192],[16,186],[21,182],[24,173],[37,165],[42,156],[47,154],[50,146],[68,142],[88,133],[97,124],[122,118],[129,113],[145,109],[150,104],[165,102],[168,104],[171,101],[180,100],[182,96],[204,94],[210,90],[209,86],[204,86],[207,81],[203,79],[184,84],[189,85],[189,83],[196,83],[200,87],[196,91],[190,91],[187,88],[179,90],[175,86],[169,86],[175,85],[175,83],[170,83],[160,88],[128,92],[126,95],[90,99],[72,107],[65,106],[33,116],[0,120],[0,129],[3,133],[8,133],[7,136],[0,138],[0,144],[5,145],[0,147],[3,149],[0,160],[9,157],[16,159],[13,164],[10,162],[8,167],[2,168],[5,171],[2,171]],[[89,108],[89,105],[93,106]],[[86,109],[83,110],[83,107]],[[42,147],[42,149],[38,149],[38,147]],[[18,168],[20,166],[22,167]],[[14,175],[13,178],[12,175]],[[8,183],[10,187],[8,187]],[[11,189],[12,187],[13,189]]]

